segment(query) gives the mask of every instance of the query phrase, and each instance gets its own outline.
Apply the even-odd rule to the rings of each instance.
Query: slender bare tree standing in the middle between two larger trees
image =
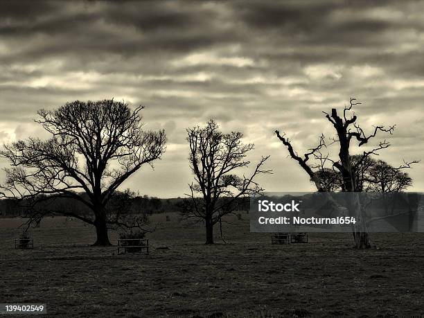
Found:
[[[260,159],[249,177],[239,177],[235,170],[249,166],[246,156],[254,148],[252,143],[242,143],[241,132],[223,134],[212,120],[204,128],[197,126],[187,132],[195,182],[189,185],[191,193],[184,200],[183,213],[186,218],[204,220],[206,244],[213,244],[213,226],[222,216],[235,211],[242,197],[263,191],[254,179],[271,172],[263,170],[269,156]]]

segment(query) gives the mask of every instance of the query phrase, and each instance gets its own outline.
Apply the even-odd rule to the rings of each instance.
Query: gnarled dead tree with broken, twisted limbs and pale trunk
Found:
[[[332,159],[329,154],[324,155],[322,153],[323,148],[326,148],[323,135],[321,135],[319,139],[319,145],[315,148],[309,149],[303,156],[300,156],[294,151],[292,144],[285,137],[285,134],[280,134],[280,132],[276,130],[276,136],[278,136],[283,145],[288,147],[290,157],[296,160],[303,170],[308,173],[312,182],[315,183],[318,191],[328,191],[326,183],[319,175],[319,171],[322,170],[326,164],[329,163],[331,168],[339,173],[342,190],[353,193],[351,195],[351,201],[348,203],[348,210],[351,216],[354,216],[357,220],[357,222],[352,226],[355,247],[357,249],[364,249],[371,247],[371,239],[366,223],[362,218],[363,211],[360,206],[359,197],[358,195],[355,195],[355,193],[362,191],[362,180],[358,179],[358,172],[360,172],[361,166],[366,166],[364,163],[372,154],[378,154],[379,150],[389,147],[390,144],[387,141],[381,141],[375,148],[364,151],[360,157],[356,157],[355,160],[352,160],[350,154],[351,141],[357,141],[358,146],[366,145],[371,139],[376,137],[378,132],[387,132],[392,134],[394,126],[384,127],[378,125],[373,127],[373,132],[371,134],[366,134],[364,130],[357,125],[357,116],[352,114],[352,108],[358,104],[360,103],[357,103],[355,98],[351,98],[350,105],[344,107],[342,115],[339,115],[335,108],[331,109],[330,114],[324,112],[327,120],[335,128],[336,138],[333,138],[332,143],[337,144],[337,148],[339,150],[337,153],[338,160]],[[311,157],[317,159],[319,164],[310,164],[309,159]],[[414,162],[416,161],[412,161],[412,163]],[[412,163],[405,163],[405,166],[410,166]]]

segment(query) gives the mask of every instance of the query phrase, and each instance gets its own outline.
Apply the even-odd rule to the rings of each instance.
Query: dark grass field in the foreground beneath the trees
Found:
[[[46,303],[43,317],[424,315],[424,233],[373,234],[366,251],[345,233],[271,245],[247,216],[205,246],[200,225],[154,215],[148,257],[90,247],[94,229],[58,217],[32,229],[35,249],[15,250],[21,219],[0,219],[0,303]]]

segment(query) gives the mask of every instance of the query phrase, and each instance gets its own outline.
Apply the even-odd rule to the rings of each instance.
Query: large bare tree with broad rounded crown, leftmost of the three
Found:
[[[6,169],[3,195],[31,202],[30,221],[39,221],[48,204],[61,197],[82,202],[89,211],[53,211],[73,216],[96,227],[95,245],[110,245],[108,228],[134,227],[122,222],[122,213],[110,213],[116,189],[144,164],[165,151],[163,130],[145,132],[141,109],[123,102],[75,101],[53,111],[42,109],[35,120],[52,136],[46,141],[30,137],[4,145],[0,152],[12,168]]]

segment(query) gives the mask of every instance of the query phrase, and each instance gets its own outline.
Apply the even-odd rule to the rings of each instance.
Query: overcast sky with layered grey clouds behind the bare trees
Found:
[[[424,159],[423,57],[422,1],[1,1],[0,142],[47,137],[37,109],[123,99],[168,135],[154,171],[123,188],[183,196],[186,127],[214,118],[255,143],[252,162],[271,155],[267,191],[310,191],[274,130],[303,153],[333,136],[322,111],[355,97],[367,132],[396,124],[379,159]],[[423,163],[408,172],[424,191]]]

